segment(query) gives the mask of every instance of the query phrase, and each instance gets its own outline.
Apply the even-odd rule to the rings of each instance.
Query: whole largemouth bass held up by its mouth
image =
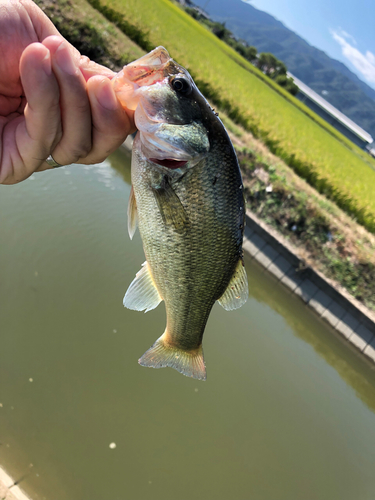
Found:
[[[147,312],[164,301],[167,316],[138,362],[206,380],[202,338],[213,305],[233,310],[248,298],[237,157],[217,113],[164,47],[125,66],[113,88],[138,129],[128,231],[132,238],[139,227],[146,257],[124,306]]]

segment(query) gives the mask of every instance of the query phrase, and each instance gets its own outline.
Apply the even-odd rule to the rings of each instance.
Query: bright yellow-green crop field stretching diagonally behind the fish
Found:
[[[147,50],[164,45],[215,105],[375,232],[375,162],[365,152],[169,0],[90,3],[125,32],[130,26],[129,36],[142,32]]]

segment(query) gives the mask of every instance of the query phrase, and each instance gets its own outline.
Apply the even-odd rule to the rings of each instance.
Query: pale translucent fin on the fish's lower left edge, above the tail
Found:
[[[125,297],[124,306],[135,311],[151,311],[155,309],[163,299],[156,289],[152,279],[147,261],[131,282]]]

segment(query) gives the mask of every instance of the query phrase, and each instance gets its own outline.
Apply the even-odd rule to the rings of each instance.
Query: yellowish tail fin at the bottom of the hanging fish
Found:
[[[150,368],[170,366],[187,377],[206,380],[202,345],[195,351],[184,351],[164,342],[163,336],[144,353],[138,363]]]

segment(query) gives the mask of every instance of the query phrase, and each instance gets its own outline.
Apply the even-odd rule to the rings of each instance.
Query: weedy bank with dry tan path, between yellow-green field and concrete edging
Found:
[[[247,206],[305,261],[375,310],[375,236],[320,195],[261,141],[221,113],[237,151]]]

